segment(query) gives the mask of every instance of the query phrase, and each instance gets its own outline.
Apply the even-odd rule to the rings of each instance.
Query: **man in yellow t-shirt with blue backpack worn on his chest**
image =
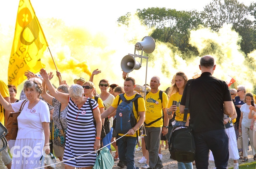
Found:
[[[118,146],[119,159],[127,166],[127,169],[138,169],[138,167],[136,167],[134,163],[134,153],[135,153],[136,144],[138,141],[137,139],[139,135],[138,129],[145,120],[145,110],[146,110],[143,97],[141,97],[140,95],[138,96],[138,94],[134,92],[135,87],[136,87],[135,80],[132,77],[127,77],[124,81],[125,93],[122,94],[124,96],[123,99],[125,99],[125,101],[121,99],[120,97],[121,94],[117,95],[112,105],[101,114],[101,118],[104,119],[108,117],[111,113],[113,113],[115,110],[117,110],[115,129],[117,128],[121,129],[120,131],[121,133],[123,133],[123,134],[120,134],[120,132],[117,132],[118,133],[117,137],[120,138],[126,133],[127,135],[118,139],[116,143]],[[133,99],[134,97],[138,97],[138,98]],[[131,124],[132,119],[129,119],[128,121],[124,120],[124,117],[126,117],[126,113],[130,113],[130,112],[125,112],[126,107],[120,108],[123,102],[125,102],[127,106],[129,106],[128,104],[132,102],[132,110],[133,110],[132,116],[137,122],[137,123],[135,122],[136,124],[134,123]],[[120,122],[120,120],[122,121],[122,123]],[[123,125],[120,126],[120,124],[123,124]],[[129,125],[130,125],[130,128],[127,128],[127,126]]]

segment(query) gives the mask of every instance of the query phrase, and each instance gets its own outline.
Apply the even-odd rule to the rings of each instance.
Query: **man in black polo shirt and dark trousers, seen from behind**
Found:
[[[229,159],[223,113],[232,116],[235,109],[226,82],[212,76],[215,67],[214,58],[204,56],[199,65],[201,76],[191,79],[190,126],[196,143],[196,168],[200,169],[208,169],[209,150],[213,152],[217,169],[227,168]],[[184,89],[180,103],[181,113],[184,113],[187,88],[188,85]]]

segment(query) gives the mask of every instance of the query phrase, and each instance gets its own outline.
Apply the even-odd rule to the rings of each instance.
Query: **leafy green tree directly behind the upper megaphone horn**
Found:
[[[137,10],[140,20],[149,28],[155,28],[151,36],[161,42],[179,47],[183,53],[197,52],[189,44],[189,31],[202,24],[197,11],[176,11],[166,8]]]

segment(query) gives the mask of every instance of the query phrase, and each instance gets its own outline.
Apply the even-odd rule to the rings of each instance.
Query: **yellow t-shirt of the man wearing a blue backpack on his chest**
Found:
[[[126,98],[126,100],[131,100],[131,99],[133,99],[134,97],[135,97],[135,95],[136,94],[134,94],[134,95],[132,95],[132,96],[127,96],[126,95],[126,93],[125,93],[125,98]],[[117,95],[116,96],[116,98],[114,99],[114,102],[112,103],[112,107],[114,107],[114,108],[117,108],[117,106],[120,104],[120,103],[122,103],[122,99],[120,100],[120,103],[118,104],[118,100],[119,100],[119,95]],[[145,101],[144,101],[144,98],[143,97],[140,97],[140,98],[138,98],[138,111],[139,112],[141,112],[141,111],[146,111],[146,107],[145,107]],[[139,120],[139,118],[138,118],[138,112],[136,111],[136,109],[135,109],[135,106],[134,106],[134,102],[133,102],[133,113],[134,113],[134,117],[136,118],[136,119],[138,119]],[[137,122],[138,122],[138,120],[137,120]],[[139,132],[139,130],[137,130],[137,132]],[[124,134],[118,134],[119,136],[123,136]],[[139,135],[139,133],[138,133],[138,135]],[[134,135],[125,135],[125,136],[131,136],[131,137],[137,137],[137,135],[136,135],[136,133],[134,134]]]

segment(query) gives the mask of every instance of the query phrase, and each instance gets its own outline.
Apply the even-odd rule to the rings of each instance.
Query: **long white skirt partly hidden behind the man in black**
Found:
[[[239,159],[238,149],[237,149],[237,139],[234,127],[229,127],[225,129],[229,138],[228,149],[229,149],[229,159]],[[210,151],[209,160],[214,161],[212,151]]]

